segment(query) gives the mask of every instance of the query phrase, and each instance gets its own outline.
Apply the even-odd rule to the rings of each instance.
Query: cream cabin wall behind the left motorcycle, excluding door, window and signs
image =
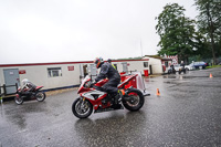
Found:
[[[74,71],[69,71],[67,66],[74,66]],[[48,67],[61,67],[62,76],[50,77]],[[35,85],[44,86],[44,90],[80,84],[80,65],[78,64],[57,64],[57,65],[34,65],[34,66],[13,66],[0,67],[0,83],[4,83],[3,69],[25,70],[25,74],[19,74],[20,84],[23,78],[28,78]]]

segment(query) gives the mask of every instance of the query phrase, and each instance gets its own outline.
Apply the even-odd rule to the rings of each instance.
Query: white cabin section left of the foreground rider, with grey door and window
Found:
[[[44,86],[43,90],[72,87],[80,84],[81,66],[92,62],[61,62],[0,65],[0,83],[20,86],[23,78]],[[83,69],[83,67],[82,67]],[[7,87],[7,94],[14,93],[15,87]]]

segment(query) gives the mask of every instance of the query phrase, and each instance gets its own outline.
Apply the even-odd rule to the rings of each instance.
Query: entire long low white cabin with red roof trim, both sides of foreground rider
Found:
[[[149,70],[148,59],[145,60],[116,60],[118,72]],[[29,63],[29,64],[0,64],[0,86],[6,85],[7,94],[14,93],[23,78],[43,90],[57,90],[74,87],[81,84],[85,75],[96,76],[98,71],[92,61],[85,62],[57,62],[57,63]]]

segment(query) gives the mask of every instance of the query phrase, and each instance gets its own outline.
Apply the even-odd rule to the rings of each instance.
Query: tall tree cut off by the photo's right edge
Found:
[[[221,48],[221,1],[220,0],[196,0],[199,10],[198,28],[206,35],[210,43],[213,63],[217,63],[215,55],[219,55]]]

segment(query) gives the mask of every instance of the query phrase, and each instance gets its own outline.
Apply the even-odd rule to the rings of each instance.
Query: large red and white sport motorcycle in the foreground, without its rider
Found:
[[[76,98],[72,105],[73,114],[78,118],[86,118],[92,114],[93,111],[94,113],[101,113],[114,109],[123,109],[124,107],[131,112],[140,109],[145,103],[144,96],[146,95],[144,95],[141,91],[133,87],[133,85],[136,86],[137,84],[135,83],[136,76],[138,76],[138,74],[127,75],[124,77],[123,83],[118,85],[118,90],[124,90],[125,95],[119,99],[120,107],[114,108],[113,104],[115,97],[106,92],[98,91],[98,88],[107,83],[108,80],[102,80],[91,87],[92,81],[87,75],[82,81],[82,84],[78,88],[77,94],[80,94],[80,97]]]

